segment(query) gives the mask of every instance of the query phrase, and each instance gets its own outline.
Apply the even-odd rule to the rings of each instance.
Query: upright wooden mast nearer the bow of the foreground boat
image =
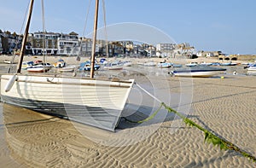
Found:
[[[95,53],[96,53],[96,36],[97,36],[97,26],[98,26],[98,9],[99,9],[99,0],[96,0],[95,5],[95,15],[94,15],[94,29],[93,29],[93,38],[92,38],[92,49],[91,49],[91,58],[90,58],[90,78],[94,77],[94,64],[95,64]]]

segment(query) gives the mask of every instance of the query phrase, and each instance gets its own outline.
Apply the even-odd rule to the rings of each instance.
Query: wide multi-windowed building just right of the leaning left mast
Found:
[[[34,32],[29,34],[26,49],[32,49],[32,55],[56,55],[58,52],[58,38],[60,33]]]

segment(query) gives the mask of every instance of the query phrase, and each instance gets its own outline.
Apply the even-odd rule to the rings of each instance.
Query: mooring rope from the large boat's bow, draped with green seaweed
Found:
[[[134,83],[136,84],[136,83]],[[166,110],[168,111],[168,113],[175,113],[177,114],[178,117],[180,117],[181,119],[183,119],[183,122],[186,125],[192,126],[197,128],[198,130],[201,130],[204,132],[205,134],[205,140],[204,142],[208,142],[208,143],[212,143],[214,146],[218,146],[221,150],[232,150],[232,151],[236,151],[237,153],[241,154],[242,156],[246,157],[249,160],[252,160],[253,162],[256,162],[256,157],[253,156],[252,154],[247,153],[246,151],[242,150],[241,148],[237,147],[235,144],[233,144],[232,142],[229,142],[227,140],[224,140],[224,138],[220,138],[219,136],[216,136],[216,134],[213,134],[210,130],[207,130],[203,127],[201,127],[200,125],[197,125],[194,121],[188,119],[187,117],[185,117],[182,113],[178,113],[176,110],[172,109],[172,107],[169,107],[166,105],[166,103],[160,101],[158,98],[156,98],[155,96],[153,96],[152,94],[150,94],[147,90],[143,89],[142,86],[140,86],[139,84],[136,84],[138,86],[138,88],[140,88],[141,90],[143,90],[146,94],[148,94],[148,96],[151,96],[154,98],[154,100],[159,101],[160,102],[160,107],[152,114],[150,115],[147,119],[143,119],[141,121],[131,121],[130,119],[126,119],[125,120],[131,122],[131,123],[143,123],[146,122],[150,119],[154,119],[154,116],[160,112],[160,109],[162,107],[165,107]]]

